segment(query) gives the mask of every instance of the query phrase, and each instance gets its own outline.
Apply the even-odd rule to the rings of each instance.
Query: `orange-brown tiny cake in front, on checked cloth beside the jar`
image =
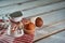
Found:
[[[24,32],[27,34],[34,34],[35,33],[35,25],[32,23],[25,25]]]

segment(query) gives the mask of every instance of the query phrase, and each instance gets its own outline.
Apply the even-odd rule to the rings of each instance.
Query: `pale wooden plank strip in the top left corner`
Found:
[[[20,3],[20,2],[26,2],[26,1],[29,1],[29,0],[0,0],[0,6],[10,5],[10,4]]]

